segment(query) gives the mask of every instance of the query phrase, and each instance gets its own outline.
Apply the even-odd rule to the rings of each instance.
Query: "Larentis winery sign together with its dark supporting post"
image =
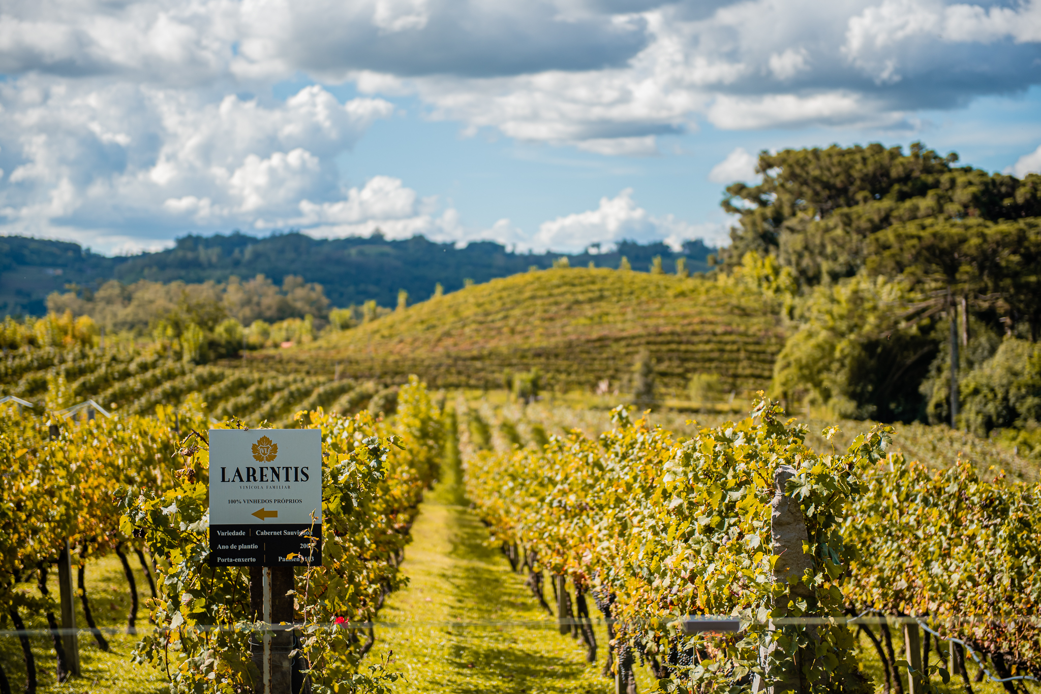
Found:
[[[294,567],[322,565],[320,430],[209,430],[209,547],[211,565],[249,569],[250,605],[275,633],[254,644],[258,694],[293,694]]]

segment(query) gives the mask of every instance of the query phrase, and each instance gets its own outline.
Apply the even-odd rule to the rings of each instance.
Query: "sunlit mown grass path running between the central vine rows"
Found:
[[[428,495],[402,565],[410,584],[380,611],[380,621],[393,626],[376,627],[374,652],[392,650],[390,668],[407,679],[396,690],[613,692],[613,680],[601,675],[604,629],[598,662],[587,665],[581,642],[557,632],[524,576],[484,545],[487,530],[461,502],[451,481]],[[638,670],[640,691],[653,691],[649,673]]]

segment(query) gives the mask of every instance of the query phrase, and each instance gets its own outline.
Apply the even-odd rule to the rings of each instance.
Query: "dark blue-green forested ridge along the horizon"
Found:
[[[687,241],[672,253],[664,243],[618,243],[612,253],[567,256],[572,266],[617,267],[621,257],[633,269],[646,271],[655,256],[671,273],[676,260],[687,259],[690,272],[708,269],[707,258],[715,249],[702,241]],[[563,254],[512,253],[492,241],[473,242],[465,248],[436,243],[423,236],[406,240],[370,238],[315,239],[301,233],[257,238],[235,232],[230,235],[184,236],[170,250],[109,258],[91,253],[76,243],[21,236],[0,236],[0,316],[46,313],[46,299],[66,284],[95,289],[117,279],[124,283],[146,279],[157,282],[226,281],[232,275],[247,279],[263,274],[275,282],[297,275],[325,288],[333,306],[376,300],[393,306],[398,291],[405,289],[411,301],[423,301],[439,282],[454,291],[466,280],[483,283],[507,277],[535,265],[550,267]]]

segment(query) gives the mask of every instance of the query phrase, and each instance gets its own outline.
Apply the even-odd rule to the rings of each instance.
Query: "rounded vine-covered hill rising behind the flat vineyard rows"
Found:
[[[529,272],[433,298],[300,348],[255,358],[281,368],[435,387],[502,387],[539,368],[558,389],[625,389],[646,349],[666,390],[695,372],[738,391],[765,387],[784,335],[763,295],[704,278],[606,268]],[[335,364],[335,366],[334,366]]]

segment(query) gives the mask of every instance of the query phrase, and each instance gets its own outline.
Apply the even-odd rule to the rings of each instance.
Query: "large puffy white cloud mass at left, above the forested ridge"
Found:
[[[342,195],[335,157],[392,106],[321,86],[284,102],[26,76],[0,84],[7,233],[264,227]],[[143,224],[144,222],[144,224]],[[136,233],[141,233],[137,231]],[[123,241],[120,241],[123,243]],[[106,241],[113,248],[116,241]]]

